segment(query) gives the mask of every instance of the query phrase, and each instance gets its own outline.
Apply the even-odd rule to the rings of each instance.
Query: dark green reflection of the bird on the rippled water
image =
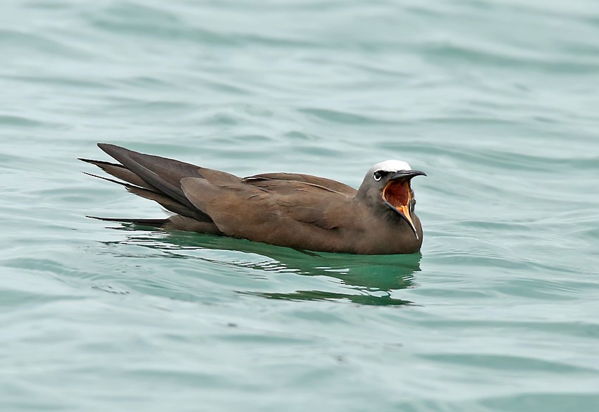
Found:
[[[296,290],[284,293],[240,291],[240,294],[290,301],[350,301],[354,304],[376,306],[414,304],[412,301],[393,297],[392,294],[401,289],[415,287],[414,274],[420,271],[420,253],[383,256],[328,254],[190,232],[140,232],[139,225],[127,223],[115,229],[135,230],[135,234],[128,235],[125,241],[118,243],[147,246],[174,254],[178,258],[198,258],[211,263],[223,262],[199,256],[196,252],[212,249],[256,254],[267,259],[226,261],[226,265],[255,269],[261,273],[334,277],[347,289],[347,293]],[[189,251],[194,251],[194,254],[187,254]]]

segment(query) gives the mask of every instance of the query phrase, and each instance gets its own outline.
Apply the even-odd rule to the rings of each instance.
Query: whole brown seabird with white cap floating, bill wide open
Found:
[[[113,144],[98,146],[119,163],[80,160],[123,182],[102,179],[175,213],[166,219],[101,220],[349,254],[410,254],[422,244],[411,181],[426,174],[412,170],[404,161],[377,163],[356,190],[335,180],[297,173],[240,178]]]

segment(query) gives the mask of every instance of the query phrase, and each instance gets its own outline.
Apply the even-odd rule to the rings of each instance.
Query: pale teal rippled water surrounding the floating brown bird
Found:
[[[595,0],[6,1],[1,411],[599,410]],[[160,218],[112,142],[357,186],[400,158],[412,256]]]

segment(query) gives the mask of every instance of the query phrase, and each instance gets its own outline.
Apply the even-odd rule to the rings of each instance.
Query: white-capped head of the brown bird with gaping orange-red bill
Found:
[[[418,238],[414,225],[414,191],[411,181],[414,176],[426,176],[420,170],[412,170],[405,161],[388,160],[376,163],[366,173],[357,196],[385,213],[397,213],[406,220]]]

